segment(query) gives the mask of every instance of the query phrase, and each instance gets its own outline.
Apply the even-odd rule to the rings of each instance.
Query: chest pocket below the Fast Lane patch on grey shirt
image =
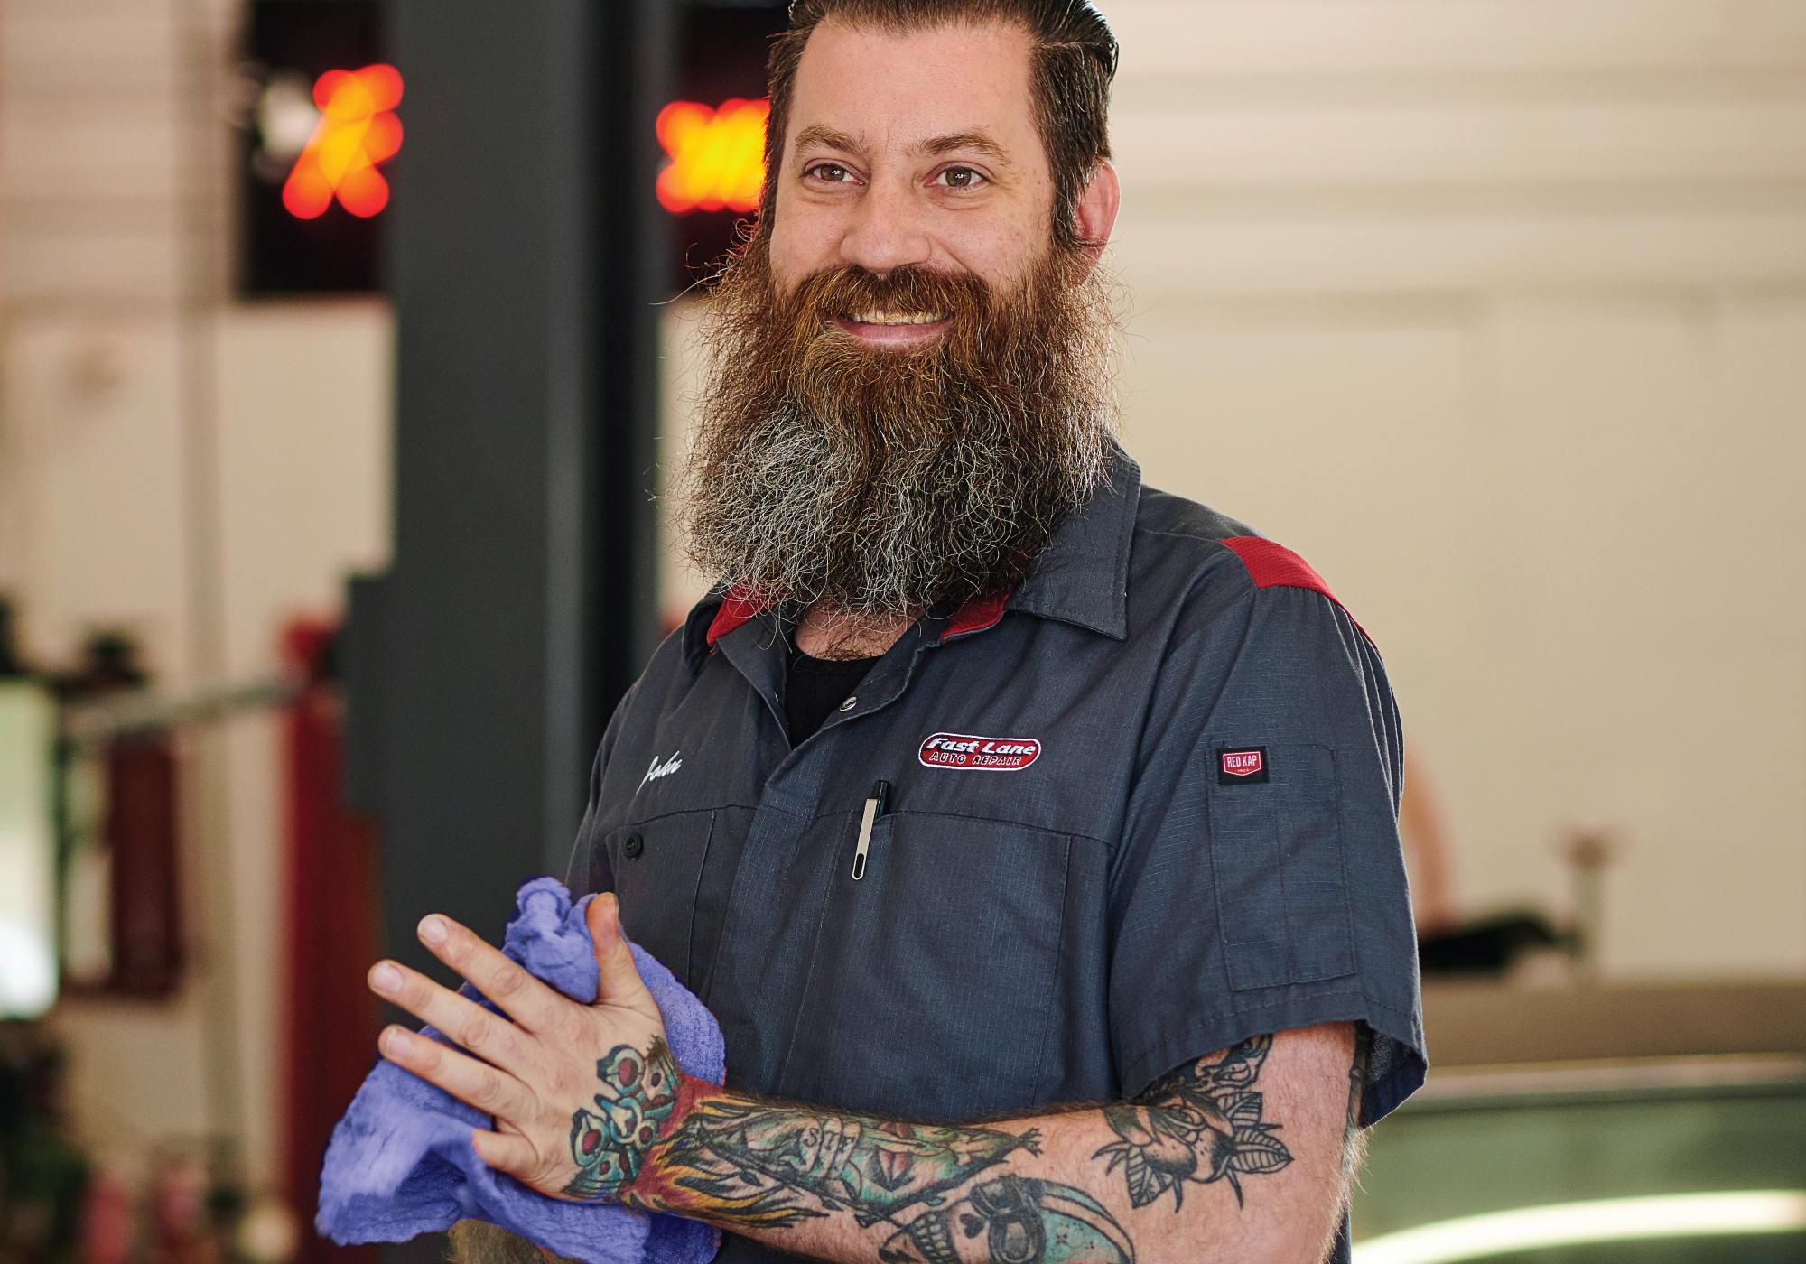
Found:
[[[1073,840],[896,813],[838,849],[780,1092],[970,1118],[1037,1101]]]

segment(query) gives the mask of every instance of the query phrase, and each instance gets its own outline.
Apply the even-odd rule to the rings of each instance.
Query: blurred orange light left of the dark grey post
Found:
[[[320,123],[294,159],[282,204],[303,220],[332,206],[370,217],[388,206],[388,181],[376,170],[401,148],[401,119],[390,110],[401,103],[401,74],[392,65],[363,70],[327,70],[314,83]]]

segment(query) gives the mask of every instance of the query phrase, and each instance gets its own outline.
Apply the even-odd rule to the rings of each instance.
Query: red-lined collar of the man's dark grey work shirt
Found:
[[[1141,468],[1112,444],[1103,484],[1053,533],[1028,578],[1008,599],[968,601],[941,634],[943,639],[988,628],[1004,610],[1038,614],[1118,641],[1127,639],[1129,545],[1140,502]],[[690,670],[703,665],[715,641],[764,610],[766,603],[755,596],[721,587],[697,601],[683,632]]]

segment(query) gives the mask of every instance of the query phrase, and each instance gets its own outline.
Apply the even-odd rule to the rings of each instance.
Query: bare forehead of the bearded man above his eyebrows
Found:
[[[811,125],[874,150],[982,132],[1010,157],[1037,161],[1029,38],[1001,22],[899,34],[829,18],[796,65],[786,144]]]

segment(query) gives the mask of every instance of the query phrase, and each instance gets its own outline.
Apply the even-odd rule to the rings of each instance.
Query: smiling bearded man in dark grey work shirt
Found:
[[[1308,565],[1109,439],[1114,58],[1082,0],[793,5],[686,486],[722,585],[573,860],[601,997],[437,915],[513,1024],[372,971],[480,1062],[385,1055],[533,1188],[735,1262],[1345,1251],[1358,1130],[1423,1076],[1396,713]],[[726,1089],[618,926],[719,1017]]]

